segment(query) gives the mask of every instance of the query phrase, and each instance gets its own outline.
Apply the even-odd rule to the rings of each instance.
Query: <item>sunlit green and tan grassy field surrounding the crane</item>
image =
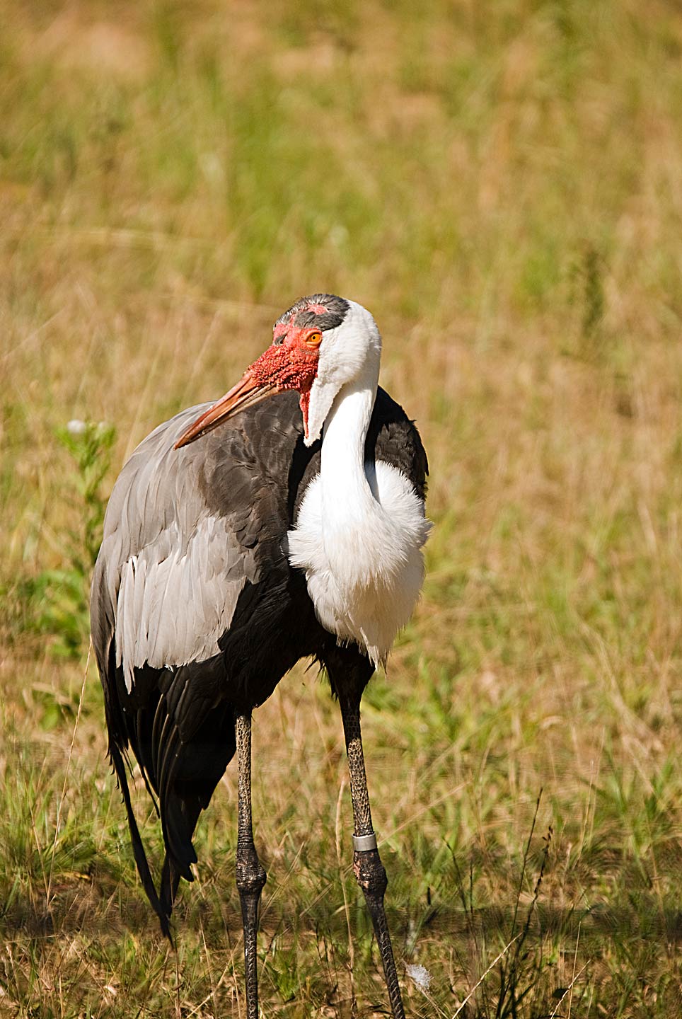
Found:
[[[234,767],[173,953],[87,582],[137,442],[327,290],[374,313],[431,465],[424,596],[363,714],[407,1011],[677,1019],[679,6],[0,0],[0,1016],[244,1014]],[[383,1015],[313,673],[254,753],[263,1015]]]

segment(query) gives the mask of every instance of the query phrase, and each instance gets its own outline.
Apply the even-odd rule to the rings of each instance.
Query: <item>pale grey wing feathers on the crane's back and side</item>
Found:
[[[202,410],[183,411],[138,446],[107,508],[93,581],[93,634],[103,675],[113,636],[128,693],[138,667],[216,654],[253,572],[253,553],[240,546],[233,523],[206,503],[197,447],[173,449]]]

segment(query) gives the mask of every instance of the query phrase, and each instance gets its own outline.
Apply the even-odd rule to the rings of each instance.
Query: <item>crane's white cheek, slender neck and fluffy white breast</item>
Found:
[[[405,475],[365,463],[381,340],[369,313],[350,305],[350,320],[324,336],[310,393],[306,441],[322,433],[322,459],[288,532],[288,558],[305,570],[322,626],[377,664],[419,596],[428,524]]]

